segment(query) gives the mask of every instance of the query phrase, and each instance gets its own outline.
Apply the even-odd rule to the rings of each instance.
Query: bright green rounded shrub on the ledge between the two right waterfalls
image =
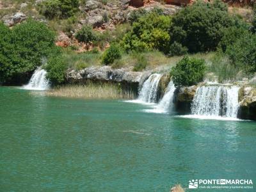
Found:
[[[191,86],[204,80],[205,61],[185,56],[171,70],[175,86]]]

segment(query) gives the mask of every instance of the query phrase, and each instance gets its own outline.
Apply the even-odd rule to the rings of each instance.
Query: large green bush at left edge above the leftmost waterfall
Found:
[[[7,34],[0,40],[2,82],[20,79],[33,72],[42,65],[42,58],[47,58],[56,49],[55,33],[42,22],[28,19],[12,30],[0,26],[0,35]]]

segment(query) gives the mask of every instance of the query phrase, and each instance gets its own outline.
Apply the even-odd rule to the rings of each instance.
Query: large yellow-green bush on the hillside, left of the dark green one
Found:
[[[156,12],[148,13],[138,22],[132,24],[132,29],[122,40],[125,51],[159,51],[168,52],[171,25],[169,16],[159,15]]]

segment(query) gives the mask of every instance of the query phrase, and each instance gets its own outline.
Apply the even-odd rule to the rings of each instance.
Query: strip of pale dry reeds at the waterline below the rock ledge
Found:
[[[83,99],[135,99],[136,97],[136,94],[131,89],[124,89],[120,84],[113,83],[65,85],[53,88],[46,94],[54,97]]]

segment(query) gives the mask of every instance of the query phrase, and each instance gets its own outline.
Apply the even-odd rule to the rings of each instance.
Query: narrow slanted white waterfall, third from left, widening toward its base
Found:
[[[146,111],[153,113],[168,113],[172,109],[174,92],[175,86],[173,84],[173,81],[170,81],[164,93],[163,99],[161,99],[159,104],[157,104],[157,106],[154,109],[147,109]]]

